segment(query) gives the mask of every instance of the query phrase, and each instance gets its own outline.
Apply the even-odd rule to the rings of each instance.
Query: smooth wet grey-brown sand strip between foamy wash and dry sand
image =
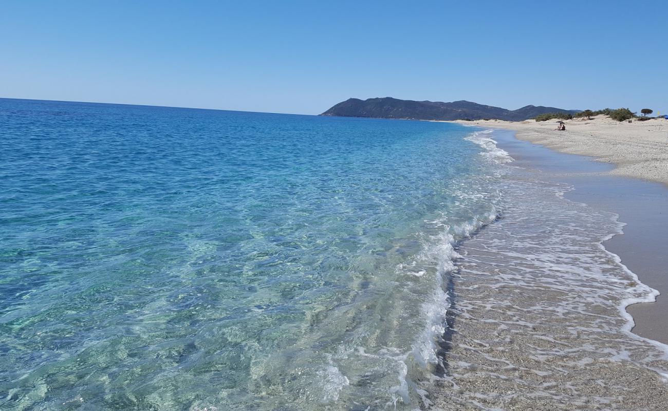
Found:
[[[535,144],[521,139],[514,130],[497,134],[501,137],[498,146],[509,152],[516,166],[534,170],[541,178],[566,182],[573,186],[564,194],[566,198],[619,216],[618,221],[625,224],[623,232],[603,241],[603,247],[617,255],[641,283],[659,293],[653,302],[625,307],[633,321],[631,331],[668,344],[668,299],[664,297],[668,295],[668,257],[660,250],[665,237],[661,227],[668,225],[668,184],[618,176],[613,174],[617,170],[613,164]]]

